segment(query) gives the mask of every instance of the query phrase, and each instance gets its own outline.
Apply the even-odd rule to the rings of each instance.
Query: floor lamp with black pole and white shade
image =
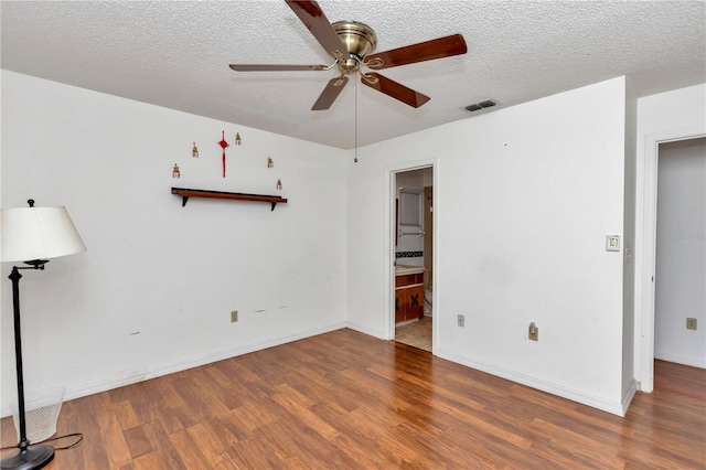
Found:
[[[52,446],[32,446],[26,438],[26,416],[24,410],[24,376],[22,373],[22,337],[20,334],[20,269],[44,269],[49,258],[85,252],[76,227],[66,207],[3,209],[0,218],[2,233],[2,263],[24,261],[28,266],[13,266],[12,307],[14,310],[14,360],[18,378],[18,405],[20,441],[18,451],[2,459],[2,469],[40,469],[54,458]]]

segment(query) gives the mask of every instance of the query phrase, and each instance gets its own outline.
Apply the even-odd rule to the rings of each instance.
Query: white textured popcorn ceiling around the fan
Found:
[[[489,98],[499,106],[479,113],[620,75],[638,96],[706,82],[704,1],[319,4],[371,25],[378,52],[453,33],[469,51],[382,71],[431,97],[418,109],[352,78],[311,111],[333,71],[228,68],[332,62],[284,0],[2,1],[2,68],[340,148],[464,119]]]

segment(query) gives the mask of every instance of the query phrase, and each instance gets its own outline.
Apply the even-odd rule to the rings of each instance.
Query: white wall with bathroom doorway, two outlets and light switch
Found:
[[[623,229],[624,127],[616,78],[359,150],[351,325],[387,334],[389,172],[431,160],[435,352],[622,414],[623,263],[605,245]]]

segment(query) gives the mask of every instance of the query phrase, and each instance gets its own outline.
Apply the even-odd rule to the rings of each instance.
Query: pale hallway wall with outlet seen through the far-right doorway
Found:
[[[654,356],[706,367],[706,138],[663,143],[659,159]]]

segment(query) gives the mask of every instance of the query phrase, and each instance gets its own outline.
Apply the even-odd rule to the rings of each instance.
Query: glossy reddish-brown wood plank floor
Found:
[[[655,367],[620,418],[340,330],[66,402],[47,468],[704,469],[706,371]]]

